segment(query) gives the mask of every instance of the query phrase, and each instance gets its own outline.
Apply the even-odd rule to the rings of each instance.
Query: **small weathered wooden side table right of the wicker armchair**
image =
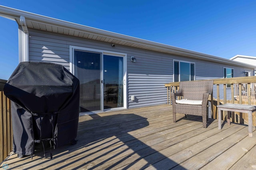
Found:
[[[256,111],[256,106],[242,104],[222,104],[218,105],[218,129],[221,129],[221,111],[237,111],[248,113],[248,132],[252,137],[252,112]],[[230,125],[230,114],[227,114],[228,125]]]

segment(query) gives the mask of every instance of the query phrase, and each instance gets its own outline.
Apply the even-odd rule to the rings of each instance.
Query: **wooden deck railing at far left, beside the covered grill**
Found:
[[[0,85],[6,81],[0,79]],[[0,162],[12,151],[11,102],[0,87]]]

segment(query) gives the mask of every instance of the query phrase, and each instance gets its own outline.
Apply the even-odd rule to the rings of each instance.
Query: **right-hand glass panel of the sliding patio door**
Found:
[[[104,109],[124,107],[123,57],[103,56]]]

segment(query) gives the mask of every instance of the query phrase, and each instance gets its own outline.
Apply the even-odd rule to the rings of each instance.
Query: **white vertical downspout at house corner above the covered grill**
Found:
[[[28,27],[24,16],[20,16],[19,25],[19,62],[29,61],[28,57]]]

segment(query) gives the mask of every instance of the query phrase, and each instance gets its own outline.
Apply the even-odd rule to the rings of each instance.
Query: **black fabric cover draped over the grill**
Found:
[[[75,140],[79,117],[79,80],[64,66],[22,62],[4,86],[12,100],[14,152],[34,153],[34,144],[60,147]]]

